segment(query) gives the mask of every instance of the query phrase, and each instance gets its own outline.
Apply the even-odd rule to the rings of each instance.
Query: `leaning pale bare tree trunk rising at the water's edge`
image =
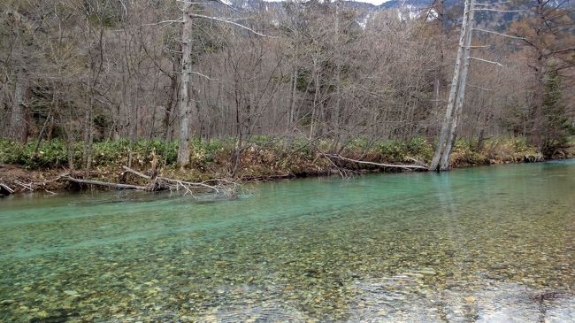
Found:
[[[461,34],[459,36],[459,44],[457,48],[457,57],[456,57],[456,67],[453,72],[453,80],[451,81],[451,89],[449,90],[449,100],[448,100],[448,107],[445,111],[445,117],[443,118],[443,123],[441,124],[441,133],[439,136],[439,141],[437,142],[437,148],[435,149],[435,153],[433,154],[433,160],[430,165],[430,170],[441,170],[439,168],[441,157],[445,154],[445,148],[449,141],[449,132],[452,127],[453,119],[454,119],[454,111],[456,107],[456,97],[457,97],[457,88],[459,84],[461,84],[461,70],[462,70],[462,63],[464,58],[464,51],[465,51],[465,42],[467,40],[466,35],[469,29],[470,23],[470,11],[472,5],[470,4],[475,3],[474,0],[466,0],[465,7],[464,7],[464,19],[461,27]],[[471,30],[469,30],[471,32]],[[448,156],[449,158],[449,156]]]

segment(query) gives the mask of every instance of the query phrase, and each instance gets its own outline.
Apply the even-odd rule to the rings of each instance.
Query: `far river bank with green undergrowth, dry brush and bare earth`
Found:
[[[332,174],[346,176],[354,173],[401,172],[405,169],[388,165],[426,165],[433,157],[433,143],[424,138],[413,138],[409,142],[368,142],[358,139],[336,150],[337,155],[324,153],[334,151],[330,145],[331,142],[327,141],[301,140],[287,144],[267,137],[257,138],[239,150],[238,157],[238,150],[234,149],[232,141],[196,140],[192,145],[191,165],[180,169],[175,165],[177,142],[96,142],[92,166],[86,169],[80,167],[80,143],[73,146],[71,151],[65,142],[59,141],[38,145],[36,142],[19,144],[0,141],[0,183],[18,193],[80,188],[68,181],[58,181],[58,176],[63,173],[77,179],[132,185],[146,181],[133,173],[126,173],[122,168],[126,165],[142,173],[160,173],[182,181],[222,178],[237,182],[270,181]],[[555,158],[573,156],[575,153],[571,148]],[[70,168],[69,158],[73,158],[73,169]],[[536,147],[524,138],[489,139],[481,145],[474,140],[461,139],[454,147],[451,166],[459,168],[544,159]],[[6,193],[6,189],[0,190]]]

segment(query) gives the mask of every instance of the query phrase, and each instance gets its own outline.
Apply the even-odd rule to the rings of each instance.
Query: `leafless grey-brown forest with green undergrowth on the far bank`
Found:
[[[249,177],[571,155],[571,0],[405,3],[1,0],[0,163]]]

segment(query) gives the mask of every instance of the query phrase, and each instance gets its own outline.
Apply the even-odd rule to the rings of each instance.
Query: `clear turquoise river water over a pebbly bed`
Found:
[[[575,320],[575,161],[0,199],[2,322]]]

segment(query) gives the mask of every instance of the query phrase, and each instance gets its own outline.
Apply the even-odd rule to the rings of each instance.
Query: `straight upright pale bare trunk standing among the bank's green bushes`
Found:
[[[192,102],[189,96],[190,73],[192,68],[192,4],[184,3],[183,25],[181,30],[181,83],[180,83],[180,144],[178,148],[178,165],[189,164],[189,122]]]

